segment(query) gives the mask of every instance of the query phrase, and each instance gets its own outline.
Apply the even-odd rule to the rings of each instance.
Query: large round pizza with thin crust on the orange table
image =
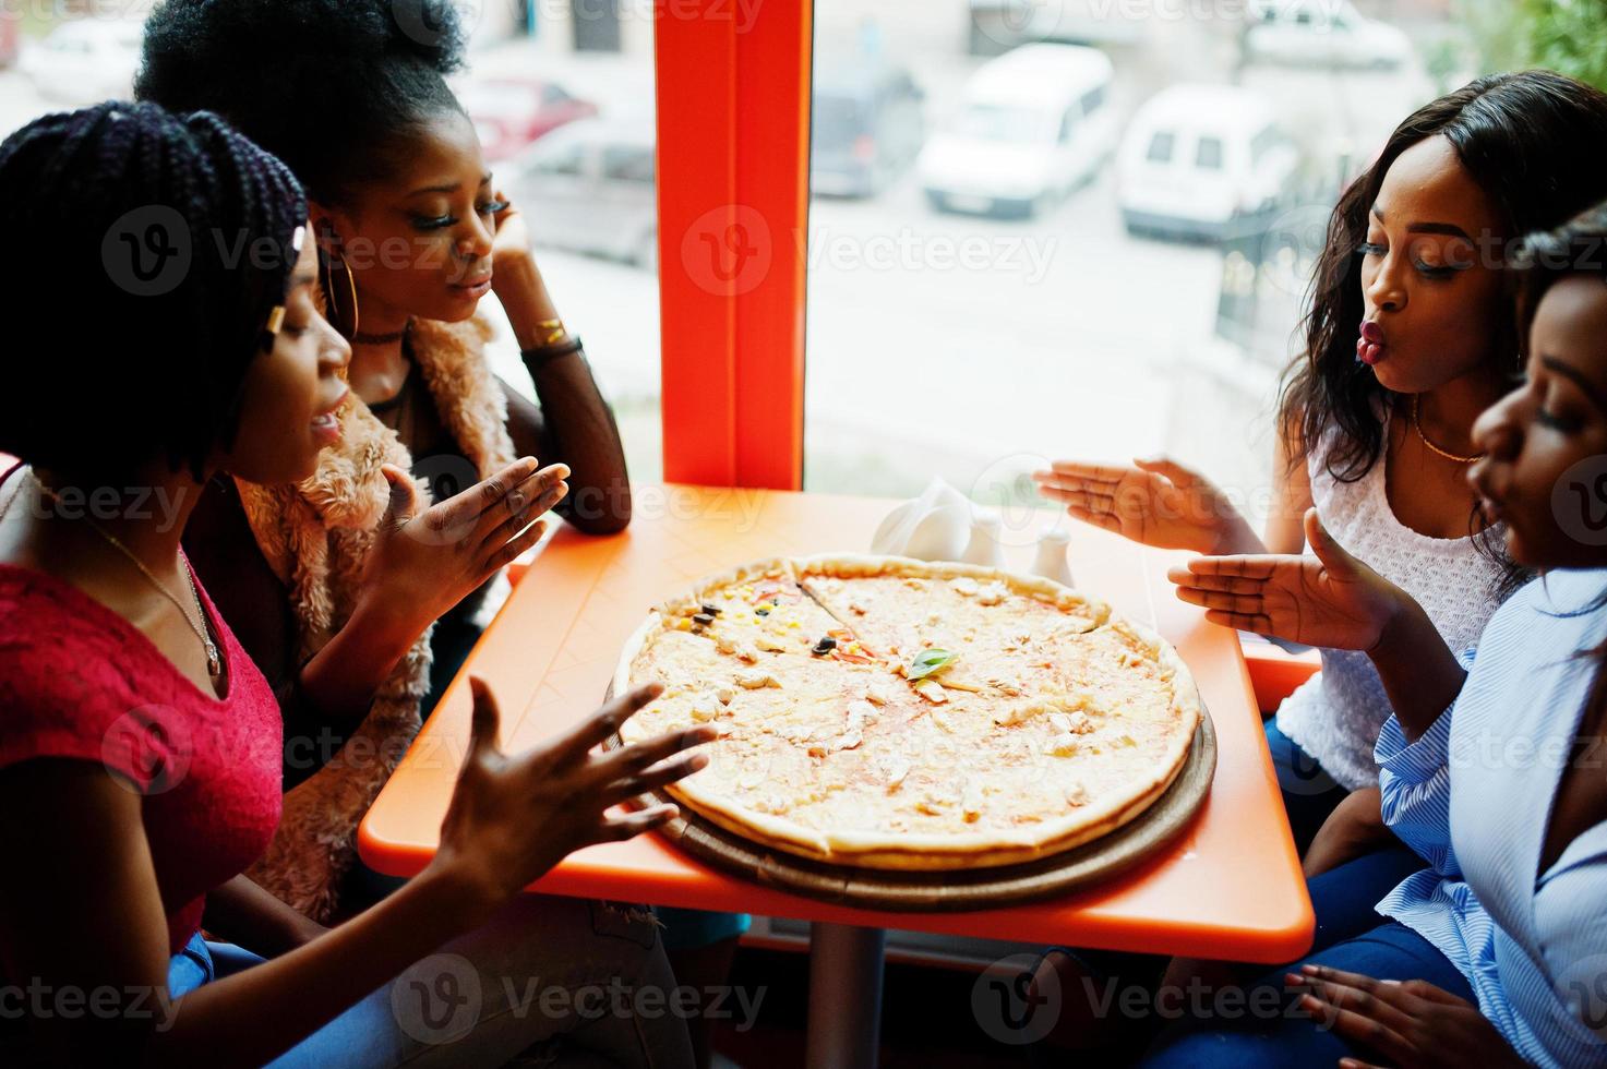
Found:
[[[651,611],[625,741],[717,725],[665,788],[767,847],[866,868],[1009,865],[1096,839],[1178,775],[1200,719],[1159,635],[1075,590],[897,556],[770,559]]]

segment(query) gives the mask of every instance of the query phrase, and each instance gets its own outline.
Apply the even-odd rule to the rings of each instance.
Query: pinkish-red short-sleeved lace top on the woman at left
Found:
[[[201,601],[222,638],[222,701],[77,587],[0,564],[0,768],[88,760],[143,796],[172,953],[201,926],[206,892],[256,860],[280,821],[278,704],[206,590]]]

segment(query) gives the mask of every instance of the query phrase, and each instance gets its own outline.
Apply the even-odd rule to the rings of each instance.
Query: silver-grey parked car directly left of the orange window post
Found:
[[[633,119],[577,119],[521,153],[508,196],[537,243],[656,267],[654,125]]]

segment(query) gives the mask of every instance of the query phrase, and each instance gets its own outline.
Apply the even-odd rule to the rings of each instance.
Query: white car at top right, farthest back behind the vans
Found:
[[[1250,0],[1245,51],[1253,59],[1319,68],[1395,69],[1413,56],[1400,29],[1350,0]]]

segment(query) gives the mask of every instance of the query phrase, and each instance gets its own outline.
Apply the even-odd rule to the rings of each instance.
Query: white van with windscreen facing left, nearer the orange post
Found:
[[[916,164],[932,207],[1033,215],[1093,177],[1117,140],[1110,77],[1110,58],[1082,45],[990,59]]]

